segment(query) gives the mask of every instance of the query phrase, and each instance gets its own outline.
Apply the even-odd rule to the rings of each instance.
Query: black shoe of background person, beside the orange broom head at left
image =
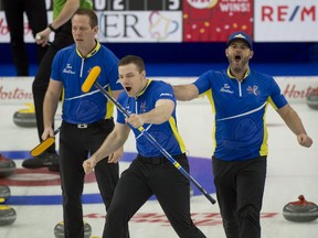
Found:
[[[59,155],[56,153],[44,152],[39,156],[24,160],[22,166],[26,169],[49,167],[50,171],[59,171]]]

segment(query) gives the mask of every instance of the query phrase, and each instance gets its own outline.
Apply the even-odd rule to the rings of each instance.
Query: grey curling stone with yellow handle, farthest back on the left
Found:
[[[32,104],[25,104],[28,108],[20,109],[13,115],[13,122],[19,127],[36,127],[35,110]]]

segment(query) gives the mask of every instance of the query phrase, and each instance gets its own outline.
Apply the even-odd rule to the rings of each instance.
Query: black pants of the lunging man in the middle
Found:
[[[173,156],[189,172],[184,154]],[[190,216],[190,183],[166,158],[137,156],[121,174],[107,210],[103,238],[127,238],[128,221],[156,195],[171,226],[181,238],[204,238]]]

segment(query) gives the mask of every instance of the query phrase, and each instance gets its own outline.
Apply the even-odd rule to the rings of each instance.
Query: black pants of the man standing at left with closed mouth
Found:
[[[65,238],[84,238],[82,194],[85,172],[82,164],[89,153],[97,151],[113,128],[113,118],[88,128],[77,128],[76,125],[62,122],[60,173]],[[99,161],[95,167],[95,176],[107,209],[119,180],[118,163],[107,163],[107,159]]]

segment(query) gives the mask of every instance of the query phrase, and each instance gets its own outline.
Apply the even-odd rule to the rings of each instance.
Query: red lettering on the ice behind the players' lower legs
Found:
[[[261,218],[274,218],[278,213],[262,213]],[[87,218],[100,218],[105,219],[105,215],[100,214],[87,214],[84,217]],[[219,213],[192,213],[191,218],[195,226],[220,226],[222,225],[222,217]],[[161,226],[170,226],[169,220],[165,214],[159,213],[137,213],[130,220],[130,223],[156,223]]]

